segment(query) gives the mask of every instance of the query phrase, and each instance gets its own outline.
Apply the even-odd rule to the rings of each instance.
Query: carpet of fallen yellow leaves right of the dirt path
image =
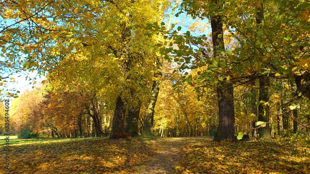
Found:
[[[302,153],[302,152],[307,153]],[[197,142],[182,148],[182,174],[310,173],[310,145],[286,142]],[[304,157],[304,159],[302,159]]]

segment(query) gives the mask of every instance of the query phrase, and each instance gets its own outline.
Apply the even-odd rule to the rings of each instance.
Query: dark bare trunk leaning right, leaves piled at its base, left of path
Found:
[[[125,102],[123,102],[120,94],[119,96],[117,96],[116,99],[116,106],[114,110],[113,122],[110,134],[111,138],[117,136],[117,134],[124,132],[125,112],[126,112],[126,105]]]

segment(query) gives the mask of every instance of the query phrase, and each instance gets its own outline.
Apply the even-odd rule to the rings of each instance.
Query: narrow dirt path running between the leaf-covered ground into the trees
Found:
[[[182,155],[182,147],[195,142],[210,142],[207,137],[167,137],[151,141],[155,156],[148,162],[139,166],[141,174],[175,173],[175,167]]]

